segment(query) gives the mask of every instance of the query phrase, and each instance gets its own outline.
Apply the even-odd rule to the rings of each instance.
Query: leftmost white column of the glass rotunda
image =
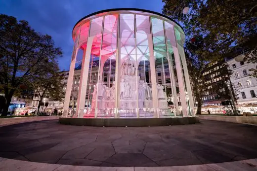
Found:
[[[76,47],[73,48],[71,65],[70,65],[70,71],[69,71],[69,76],[68,76],[68,80],[67,80],[66,92],[65,92],[65,99],[64,99],[64,103],[63,103],[63,114],[62,114],[62,117],[67,117],[68,116],[68,112],[69,112],[69,105],[70,105],[70,98],[71,98],[71,89],[72,89],[72,83],[73,83],[74,69],[75,69],[76,57],[77,57],[77,53],[78,53],[78,48],[77,48],[78,44],[77,43],[74,44],[74,46],[76,46]]]

